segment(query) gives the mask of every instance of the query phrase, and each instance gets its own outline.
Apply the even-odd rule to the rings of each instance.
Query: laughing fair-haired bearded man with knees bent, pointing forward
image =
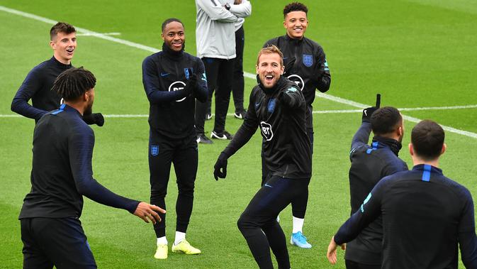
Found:
[[[215,163],[214,177],[225,178],[228,158],[260,128],[262,155],[271,177],[252,198],[237,226],[259,268],[273,268],[270,248],[279,268],[290,268],[285,234],[276,217],[293,199],[308,192],[311,148],[305,98],[295,83],[282,76],[283,55],[276,46],[260,50],[256,69],[259,84],[252,89],[242,126]]]

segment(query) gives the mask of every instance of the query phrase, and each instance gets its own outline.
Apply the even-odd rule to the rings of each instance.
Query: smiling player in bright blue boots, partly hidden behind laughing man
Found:
[[[276,45],[284,53],[285,76],[295,82],[303,92],[308,108],[307,133],[310,138],[313,152],[313,101],[315,89],[327,92],[330,89],[331,75],[325,52],[318,43],[305,38],[308,27],[308,8],[301,3],[294,2],[284,8],[284,27],[286,35],[266,41],[264,47]],[[268,168],[262,165],[262,185],[268,180]],[[307,238],[303,235],[303,224],[308,204],[308,192],[291,202],[293,214],[293,231],[290,242],[300,248],[311,248]]]

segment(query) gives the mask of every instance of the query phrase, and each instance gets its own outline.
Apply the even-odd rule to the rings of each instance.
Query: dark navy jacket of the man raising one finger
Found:
[[[398,158],[401,144],[390,138],[375,136],[369,146],[371,123],[361,123],[354,134],[349,168],[349,194],[351,214],[359,209],[366,195],[383,177],[395,172],[408,170],[408,165]],[[369,224],[354,241],[347,244],[344,256],[347,260],[368,265],[380,265],[382,253],[383,228],[381,217]]]

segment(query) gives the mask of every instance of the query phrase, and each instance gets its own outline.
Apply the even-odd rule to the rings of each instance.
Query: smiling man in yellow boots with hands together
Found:
[[[165,197],[171,164],[176,171],[176,234],[172,252],[198,254],[186,241],[192,214],[198,148],[194,128],[196,99],[207,100],[207,79],[202,61],[184,52],[184,25],[177,18],[162,23],[162,51],[142,62],[142,83],[150,102],[149,170],[151,203],[166,208]],[[154,226],[155,258],[167,258],[166,216]]]

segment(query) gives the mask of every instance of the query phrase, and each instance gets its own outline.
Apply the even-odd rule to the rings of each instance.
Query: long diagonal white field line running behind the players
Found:
[[[50,25],[57,23],[57,21],[52,20],[50,18],[44,18],[44,17],[37,16],[37,15],[31,14],[31,13],[18,11],[16,9],[9,9],[5,6],[0,6],[0,11],[5,11],[7,13],[12,13],[12,14],[22,16],[22,17],[25,17],[25,18],[32,18],[36,21],[42,21],[42,22],[48,23]],[[79,33],[87,33],[87,34],[90,34],[90,35],[92,35],[96,38],[101,38],[101,39],[109,40],[109,41],[112,41],[112,42],[115,42],[115,43],[128,45],[130,47],[138,48],[140,50],[146,50],[146,51],[149,51],[151,53],[157,53],[159,51],[158,48],[152,48],[152,47],[149,47],[147,45],[141,45],[141,44],[130,42],[128,40],[123,40],[123,39],[120,39],[120,38],[113,38],[109,35],[104,35],[102,33],[96,33],[94,31],[89,31],[88,29],[79,28],[79,27],[76,27],[76,26],[75,26],[75,28],[77,29],[77,31]],[[251,73],[248,73],[248,72],[244,72],[244,77],[248,77],[250,79],[256,79],[257,75],[254,75],[254,74],[251,74]],[[316,96],[319,97],[319,98],[328,99],[330,101],[335,101],[335,102],[340,103],[340,104],[347,104],[349,106],[354,106],[354,107],[357,107],[359,109],[364,109],[366,107],[369,107],[369,105],[367,105],[367,104],[361,104],[361,103],[351,101],[351,100],[348,100],[348,99],[343,99],[343,98],[340,98],[340,97],[334,97],[330,94],[317,93]],[[417,119],[417,118],[414,118],[414,117],[411,117],[411,116],[403,115],[403,117],[404,117],[404,119],[406,119],[408,121],[412,121],[412,122],[416,122],[416,123],[421,121],[420,119]],[[459,129],[456,129],[456,128],[452,128],[450,126],[444,126],[444,125],[441,125],[441,126],[442,126],[442,128],[444,128],[444,130],[449,131],[451,133],[458,133],[462,136],[477,138],[477,133],[472,133],[472,132],[468,132],[468,131],[459,130]]]

